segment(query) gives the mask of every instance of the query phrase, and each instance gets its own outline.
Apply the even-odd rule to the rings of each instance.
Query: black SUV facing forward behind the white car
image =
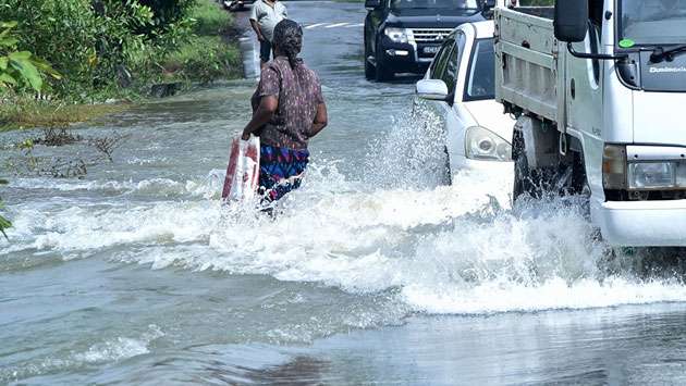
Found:
[[[493,0],[366,0],[365,76],[426,72],[443,39],[457,26],[486,20]]]

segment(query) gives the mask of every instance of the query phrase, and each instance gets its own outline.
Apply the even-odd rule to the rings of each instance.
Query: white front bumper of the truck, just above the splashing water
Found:
[[[612,246],[686,246],[686,200],[595,202],[591,215]]]

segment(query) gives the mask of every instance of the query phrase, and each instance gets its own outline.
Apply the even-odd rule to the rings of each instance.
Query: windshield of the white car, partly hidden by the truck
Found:
[[[495,52],[493,39],[479,39],[471,51],[464,101],[495,98]]]

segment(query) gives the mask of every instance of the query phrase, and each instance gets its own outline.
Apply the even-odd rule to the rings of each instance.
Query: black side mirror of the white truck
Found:
[[[555,1],[555,39],[578,42],[588,32],[588,0]]]

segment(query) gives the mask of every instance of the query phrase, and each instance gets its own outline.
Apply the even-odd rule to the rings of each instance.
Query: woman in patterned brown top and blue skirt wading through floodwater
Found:
[[[327,126],[327,107],[314,71],[297,58],[303,29],[291,20],[279,22],[273,35],[274,59],[262,69],[253,95],[253,119],[243,139],[260,137],[259,190],[270,204],[301,186],[309,162],[308,140]]]

